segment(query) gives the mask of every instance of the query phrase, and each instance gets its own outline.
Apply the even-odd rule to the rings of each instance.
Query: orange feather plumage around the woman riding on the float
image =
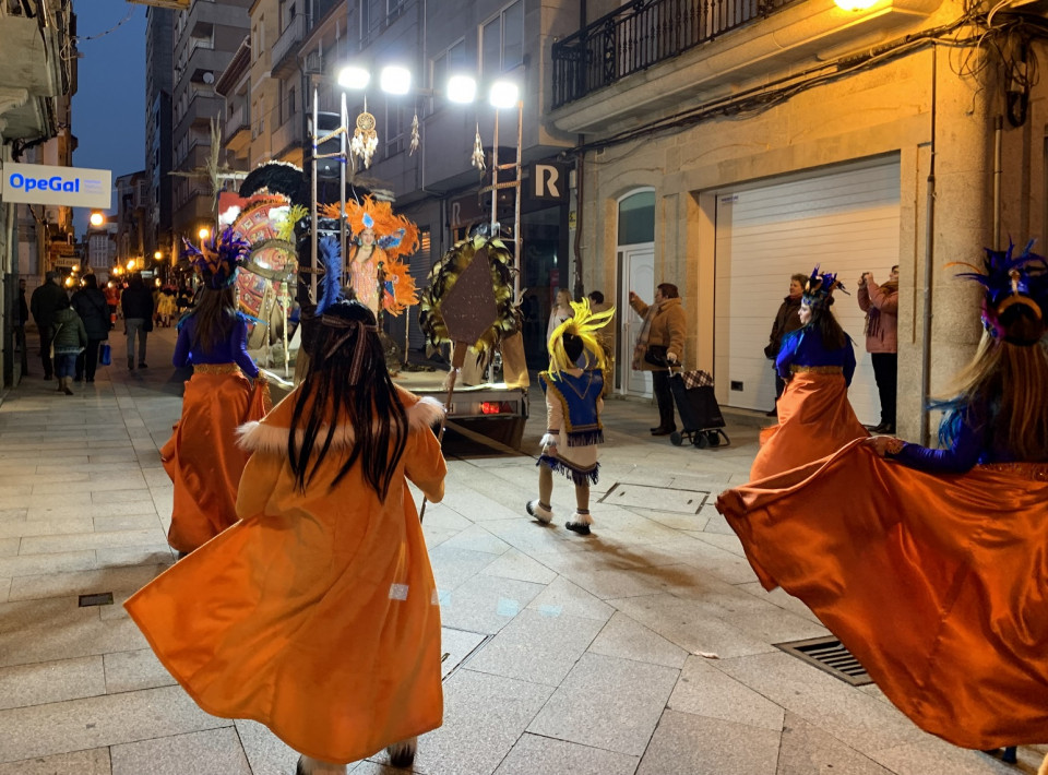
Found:
[[[342,217],[342,203],[325,204],[321,215],[337,220]],[[365,229],[374,233],[374,246],[379,250],[379,297],[381,309],[393,317],[418,303],[415,278],[408,265],[401,259],[418,250],[418,227],[403,215],[396,215],[389,202],[378,202],[371,196],[345,203],[349,230],[359,238]]]

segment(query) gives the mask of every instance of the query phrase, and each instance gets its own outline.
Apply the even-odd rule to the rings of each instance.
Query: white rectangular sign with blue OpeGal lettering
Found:
[[[3,165],[0,200],[109,210],[112,204],[112,172],[108,169],[11,162]]]

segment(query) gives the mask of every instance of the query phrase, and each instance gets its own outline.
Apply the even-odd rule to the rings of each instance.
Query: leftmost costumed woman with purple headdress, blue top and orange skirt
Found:
[[[167,542],[181,556],[237,521],[237,488],[248,463],[237,428],[262,419],[272,406],[269,383],[248,355],[248,320],[236,307],[237,270],[250,246],[227,228],[201,248],[190,246],[188,253],[205,289],[179,323],[174,357],[176,368],[191,365],[193,375],[181,418],[160,450],[175,485]]]

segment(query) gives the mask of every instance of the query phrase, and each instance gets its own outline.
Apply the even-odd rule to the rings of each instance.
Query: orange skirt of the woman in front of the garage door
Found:
[[[851,409],[839,372],[795,373],[776,407],[778,425],[761,431],[750,481],[832,455],[849,441],[870,434]]]

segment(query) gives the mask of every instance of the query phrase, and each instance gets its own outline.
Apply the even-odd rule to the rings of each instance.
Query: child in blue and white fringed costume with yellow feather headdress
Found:
[[[546,434],[538,458],[538,499],[528,501],[527,513],[544,525],[553,521],[550,496],[553,472],[575,485],[575,512],[564,524],[569,530],[590,535],[590,485],[597,481],[600,464],[597,444],[604,442],[600,410],[604,407],[604,348],[594,336],[611,320],[615,309],[598,314],[590,310],[590,300],[571,302],[575,314],[558,325],[549,337],[549,370],[538,375],[546,394]],[[588,359],[582,355],[588,351]],[[580,368],[579,362],[592,363]]]

